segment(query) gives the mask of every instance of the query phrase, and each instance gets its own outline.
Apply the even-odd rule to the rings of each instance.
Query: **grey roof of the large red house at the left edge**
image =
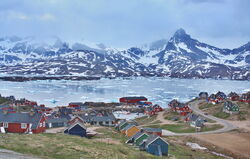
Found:
[[[32,129],[36,129],[43,114],[35,112],[34,115],[30,113],[7,113],[5,114],[0,110],[0,122],[6,123],[30,123],[32,124]]]

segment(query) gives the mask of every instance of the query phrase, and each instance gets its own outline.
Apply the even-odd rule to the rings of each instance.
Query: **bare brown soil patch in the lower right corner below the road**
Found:
[[[236,158],[250,159],[250,133],[221,133],[195,135],[198,140],[212,144],[226,152],[231,152]]]

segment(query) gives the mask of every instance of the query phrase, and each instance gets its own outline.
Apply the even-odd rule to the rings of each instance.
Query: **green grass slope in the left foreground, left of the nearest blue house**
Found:
[[[104,135],[106,137],[119,137],[119,135]],[[64,134],[3,134],[2,136],[0,148],[45,159],[159,158],[144,151],[138,151],[125,143],[111,144],[95,140],[98,138],[86,139]]]

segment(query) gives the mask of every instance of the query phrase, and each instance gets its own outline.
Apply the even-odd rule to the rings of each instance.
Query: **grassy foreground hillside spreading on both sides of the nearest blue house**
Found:
[[[99,128],[96,131],[101,135],[92,139],[64,134],[1,134],[0,148],[45,159],[160,159],[125,144],[127,138],[113,128]],[[192,151],[184,143],[176,142],[177,137],[166,140],[170,143],[170,155],[163,158],[218,158],[205,151]]]

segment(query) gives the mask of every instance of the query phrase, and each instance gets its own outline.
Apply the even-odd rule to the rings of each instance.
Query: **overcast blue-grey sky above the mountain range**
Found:
[[[1,0],[0,36],[51,36],[129,47],[178,28],[209,44],[250,41],[250,0]]]

